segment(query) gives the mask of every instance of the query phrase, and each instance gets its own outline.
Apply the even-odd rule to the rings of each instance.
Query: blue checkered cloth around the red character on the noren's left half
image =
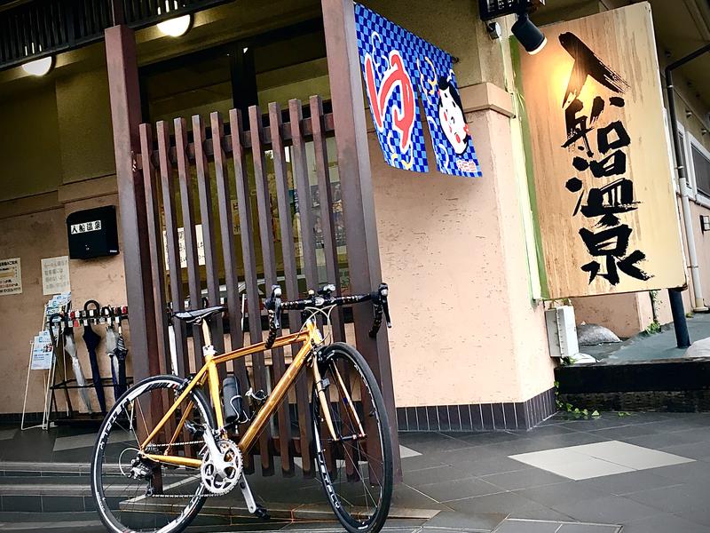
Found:
[[[363,68],[363,72],[365,72],[366,56],[369,54],[372,57],[377,92],[379,93],[382,90],[383,78],[391,67],[390,52],[396,51],[399,52],[399,55],[404,60],[404,68],[411,80],[411,85],[413,85],[412,93],[415,95],[416,65],[408,51],[414,45],[416,37],[360,4],[355,4],[355,28],[358,36],[360,65]],[[403,109],[402,97],[401,84],[394,84],[390,98],[382,110],[383,129],[380,130],[375,127],[380,147],[383,149],[384,159],[391,166],[398,169],[416,172],[429,171],[426,148],[424,147],[422,118],[416,106],[415,96],[414,125],[410,141],[405,150],[402,150],[400,146],[402,132],[393,127],[394,114],[400,113]],[[373,120],[375,120],[376,125],[374,107],[379,106],[379,104],[372,101],[369,93],[367,98],[370,100],[370,110],[373,111]]]

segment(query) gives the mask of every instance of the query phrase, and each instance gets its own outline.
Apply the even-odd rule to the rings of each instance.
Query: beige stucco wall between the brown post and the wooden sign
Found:
[[[507,41],[485,34],[473,3],[418,1],[404,11],[367,5],[461,59],[455,70],[464,107],[472,105],[467,85],[512,86]],[[398,405],[430,404],[422,391],[432,379],[446,384],[437,403],[520,402],[553,383],[543,309],[531,298],[529,207],[514,156],[522,153],[519,126],[491,110],[467,120],[481,179],[392,169],[370,133],[383,278],[392,284],[393,316],[411,322],[390,330]]]

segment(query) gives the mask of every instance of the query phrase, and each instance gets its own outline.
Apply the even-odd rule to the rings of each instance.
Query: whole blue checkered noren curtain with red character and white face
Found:
[[[360,4],[355,4],[355,27],[367,99],[385,161],[398,169],[429,170],[418,92],[438,171],[481,176],[451,56]]]

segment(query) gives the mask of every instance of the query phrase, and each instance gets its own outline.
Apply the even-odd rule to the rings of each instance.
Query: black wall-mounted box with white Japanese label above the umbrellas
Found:
[[[76,211],[67,217],[69,258],[91,259],[118,253],[114,205]]]

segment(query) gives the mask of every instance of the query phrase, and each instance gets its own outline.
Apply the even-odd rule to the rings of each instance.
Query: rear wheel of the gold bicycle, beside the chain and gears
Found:
[[[177,533],[200,512],[206,489],[199,469],[165,467],[138,456],[141,442],[153,429],[147,423],[148,411],[162,418],[184,384],[175,376],[147,378],[123,394],[106,415],[91,460],[91,492],[106,529]],[[193,428],[216,426],[209,402],[195,388],[146,451],[199,458],[204,439],[186,429],[177,435],[179,445],[166,446],[183,418]]]

